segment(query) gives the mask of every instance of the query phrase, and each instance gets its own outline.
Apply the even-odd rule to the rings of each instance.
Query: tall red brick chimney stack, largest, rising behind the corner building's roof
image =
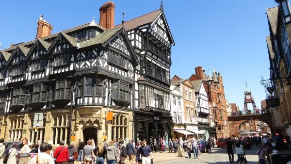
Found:
[[[99,24],[105,29],[112,29],[114,27],[114,11],[115,4],[113,1],[104,3],[100,8],[100,22]]]

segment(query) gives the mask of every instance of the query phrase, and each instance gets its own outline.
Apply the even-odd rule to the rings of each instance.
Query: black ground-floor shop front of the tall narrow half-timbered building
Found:
[[[134,112],[134,140],[147,140],[153,146],[153,141],[159,136],[164,137],[166,143],[172,138],[173,119],[171,115],[156,112]]]

